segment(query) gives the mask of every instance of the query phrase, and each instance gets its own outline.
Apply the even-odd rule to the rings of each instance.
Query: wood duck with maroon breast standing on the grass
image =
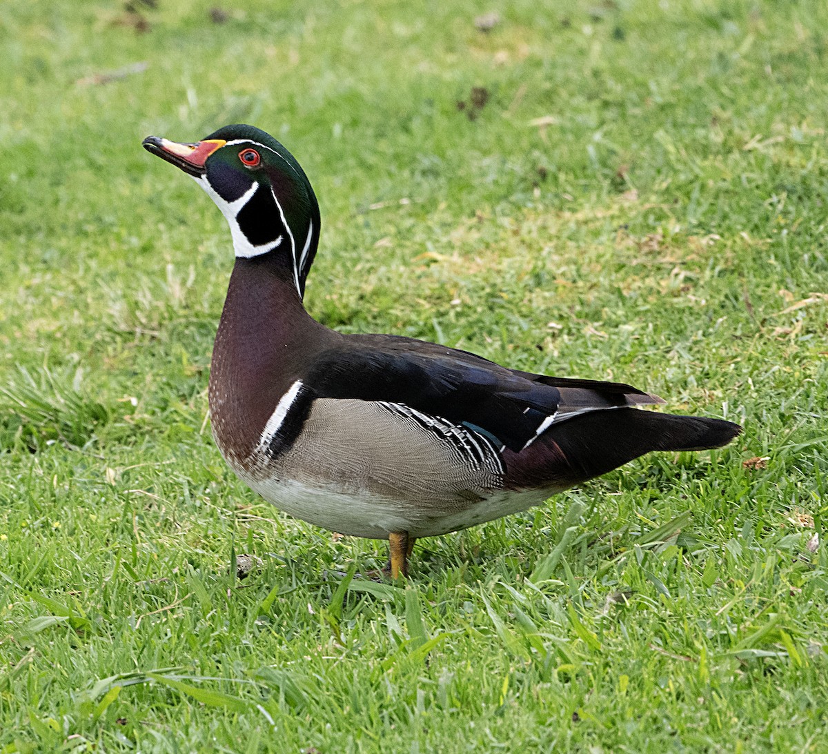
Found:
[[[236,260],[209,377],[224,459],[291,516],[388,539],[392,578],[407,575],[418,537],[525,510],[651,450],[716,448],[741,431],[642,411],[664,401],[618,382],[330,330],[302,305],[320,213],[282,144],[233,125],[143,146],[191,175],[230,226]]]

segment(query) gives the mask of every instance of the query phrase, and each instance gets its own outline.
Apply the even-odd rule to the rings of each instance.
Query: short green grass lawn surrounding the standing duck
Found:
[[[825,4],[214,4],[0,15],[0,751],[828,750]],[[209,436],[229,233],[140,140],[239,121],[325,324],[744,435],[354,575]]]

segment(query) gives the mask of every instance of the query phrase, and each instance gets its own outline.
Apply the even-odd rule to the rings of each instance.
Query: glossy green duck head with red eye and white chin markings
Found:
[[[219,128],[200,142],[147,137],[147,151],[192,176],[224,214],[236,257],[277,255],[301,298],[319,242],[319,204],[299,163],[253,126]]]

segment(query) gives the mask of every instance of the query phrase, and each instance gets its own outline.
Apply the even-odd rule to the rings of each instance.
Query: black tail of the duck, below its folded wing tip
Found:
[[[575,476],[573,483],[577,483],[652,450],[719,448],[741,431],[738,424],[721,419],[619,408],[580,415],[557,427],[552,425],[536,444],[547,448],[550,443],[546,440],[557,444]],[[532,446],[527,450],[530,449]]]

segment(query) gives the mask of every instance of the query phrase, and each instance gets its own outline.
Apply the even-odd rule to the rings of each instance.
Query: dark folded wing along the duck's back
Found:
[[[316,354],[306,385],[317,398],[384,401],[440,417],[515,453],[575,416],[663,402],[616,382],[513,371],[474,353],[388,335],[344,336]]]

